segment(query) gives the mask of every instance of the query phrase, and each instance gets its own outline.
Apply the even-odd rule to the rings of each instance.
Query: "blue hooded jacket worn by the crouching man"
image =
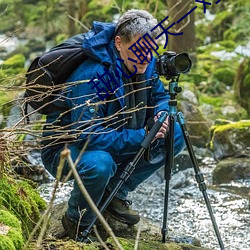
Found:
[[[47,116],[47,123],[63,127],[63,131],[57,129],[57,134],[45,132],[45,136],[63,133],[59,141],[63,142],[62,138],[68,137],[79,147],[83,147],[88,139],[88,150],[104,150],[114,155],[132,154],[140,148],[145,137],[144,128],[124,127],[124,88],[122,73],[115,71],[120,62],[116,59],[114,32],[114,24],[94,22],[92,30],[86,33],[83,48],[88,59],[69,77],[68,87],[62,93],[63,101],[57,101],[54,111]],[[104,67],[119,85],[105,102],[97,95],[96,88],[89,84],[93,77],[97,78],[97,72],[104,73]],[[108,80],[108,75],[104,78]],[[149,87],[147,106],[153,107],[149,108],[152,112],[147,112],[147,117],[162,110],[168,111],[169,95],[156,73],[155,58],[145,72],[145,79],[148,79],[146,86]],[[110,84],[115,88],[114,82]],[[107,88],[102,83],[98,87]],[[65,106],[68,111],[62,112]]]

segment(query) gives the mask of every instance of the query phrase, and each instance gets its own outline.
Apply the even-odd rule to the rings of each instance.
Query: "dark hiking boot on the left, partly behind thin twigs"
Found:
[[[67,213],[62,217],[63,228],[66,232],[65,236],[68,236],[70,239],[79,242],[91,243],[97,241],[97,238],[90,234],[86,239],[83,237],[83,232],[86,227],[78,225],[75,221],[68,217]]]

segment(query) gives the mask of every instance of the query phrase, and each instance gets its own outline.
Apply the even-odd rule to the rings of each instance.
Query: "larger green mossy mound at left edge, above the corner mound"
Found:
[[[0,178],[0,206],[21,221],[23,236],[27,238],[39,220],[41,211],[45,210],[46,203],[27,181],[3,174]]]

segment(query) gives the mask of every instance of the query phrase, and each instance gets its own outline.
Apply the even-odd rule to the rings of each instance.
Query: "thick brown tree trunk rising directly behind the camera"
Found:
[[[166,0],[169,9],[169,25],[177,22],[180,18],[187,14],[194,6],[193,1],[184,0]],[[180,2],[179,4],[177,4]],[[188,52],[194,59],[196,50],[195,39],[195,10],[185,17],[179,24],[175,24],[170,32],[176,33],[176,30],[183,32],[183,35],[173,36],[168,35],[168,48],[169,50],[180,52]],[[190,21],[189,21],[190,20]],[[189,21],[189,22],[188,22]],[[179,33],[178,32],[178,33]]]

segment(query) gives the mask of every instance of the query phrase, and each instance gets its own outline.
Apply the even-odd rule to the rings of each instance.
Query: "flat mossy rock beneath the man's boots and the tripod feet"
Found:
[[[67,238],[62,240],[57,239],[56,236],[58,234],[62,235],[63,227],[61,224],[61,216],[65,213],[67,208],[66,203],[61,203],[55,205],[52,209],[51,222],[49,224],[49,228],[47,231],[47,238],[44,240],[44,245],[46,245],[46,241],[49,241],[53,246],[64,245],[69,247],[69,243],[71,243],[72,249],[73,246],[84,246],[84,249],[103,249],[100,247],[100,244],[92,243],[86,244],[84,243],[76,243],[73,241],[68,241]],[[119,242],[124,247],[124,249],[132,250],[134,249],[136,235],[138,231],[140,231],[139,235],[139,249],[155,249],[155,250],[209,250],[208,248],[204,248],[200,246],[199,240],[193,237],[186,236],[176,236],[172,232],[169,233],[169,237],[167,237],[167,243],[161,242],[161,230],[158,226],[150,223],[149,220],[141,219],[140,223],[135,226],[128,226],[121,222],[114,220],[112,217],[108,215],[104,215],[106,221],[109,223],[116,237],[118,237]],[[98,226],[99,230],[104,230],[101,226]],[[107,235],[106,235],[107,237]],[[107,238],[106,244],[110,247],[110,249],[114,249],[114,243],[111,238]],[[80,245],[79,245],[80,244]],[[47,243],[48,245],[48,243]],[[93,248],[91,248],[93,247]],[[96,248],[94,248],[96,247]],[[69,248],[60,248],[60,249],[69,249]],[[71,249],[71,248],[70,248]],[[78,249],[78,248],[76,248]]]

